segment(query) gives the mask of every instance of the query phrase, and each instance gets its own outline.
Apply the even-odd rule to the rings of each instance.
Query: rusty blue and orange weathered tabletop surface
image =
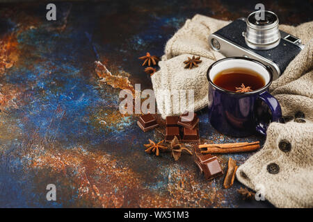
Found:
[[[312,1],[266,3],[284,23],[312,20]],[[163,139],[164,126],[143,133],[138,116],[118,111],[120,89],[152,88],[137,58],[161,56],[187,18],[236,19],[255,3],[56,5],[56,22],[47,22],[42,3],[0,5],[0,207],[271,207],[244,203],[239,182],[228,190],[223,178],[207,182],[192,156],[175,162],[170,153],[147,155],[143,144]],[[202,142],[264,142],[220,135],[207,110],[198,114]],[[249,155],[218,158],[226,170],[229,157],[243,163]],[[49,202],[50,183],[57,200]]]

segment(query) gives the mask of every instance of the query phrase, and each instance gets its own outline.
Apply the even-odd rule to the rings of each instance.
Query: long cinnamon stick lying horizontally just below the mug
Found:
[[[257,142],[242,142],[242,143],[232,143],[232,144],[202,144],[198,146],[202,154],[206,153],[241,153],[248,151],[257,151],[259,146],[259,141]],[[206,148],[206,150],[202,150]]]

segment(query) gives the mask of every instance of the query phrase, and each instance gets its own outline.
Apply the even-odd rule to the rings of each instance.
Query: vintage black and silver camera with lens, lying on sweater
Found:
[[[250,19],[250,15],[248,19]],[[273,13],[273,15],[275,14]],[[255,28],[252,24],[251,26],[254,28],[255,33],[249,31],[251,27],[247,21],[248,19],[236,19],[234,22],[212,33],[209,36],[209,44],[212,49],[219,51],[227,57],[243,56],[259,60],[259,62],[272,69],[273,79],[275,80],[283,73],[289,62],[300,53],[304,46],[299,38],[278,30],[277,16],[276,24],[271,22],[272,26],[269,28],[261,25],[261,30],[259,30],[257,29],[258,27]],[[262,28],[268,33],[264,33]],[[251,43],[254,40],[253,35],[255,44]],[[251,42],[250,39],[252,39]],[[264,47],[262,48],[263,45]]]

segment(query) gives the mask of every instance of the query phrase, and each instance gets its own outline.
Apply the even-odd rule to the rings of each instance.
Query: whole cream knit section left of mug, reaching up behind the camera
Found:
[[[182,114],[185,110],[192,108],[200,110],[207,106],[209,86],[207,69],[216,60],[224,58],[222,54],[210,49],[207,39],[210,33],[214,33],[228,23],[203,15],[195,15],[193,19],[188,19],[184,26],[168,40],[165,55],[159,62],[160,69],[151,78],[158,112],[161,113],[163,119],[170,115]],[[184,61],[192,56],[201,56],[202,62],[199,67],[184,69]],[[184,108],[185,100],[181,100],[179,97],[184,97],[184,92],[179,92],[182,89],[194,90],[193,107],[187,104]],[[174,94],[179,94],[178,99]],[[188,95],[187,92],[186,95]],[[170,101],[167,101],[166,98]],[[188,103],[189,97],[184,98]],[[181,104],[182,106],[179,106]],[[180,109],[175,112],[177,108]]]

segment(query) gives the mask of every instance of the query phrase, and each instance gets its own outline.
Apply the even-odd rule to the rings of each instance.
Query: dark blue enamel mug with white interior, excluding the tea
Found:
[[[265,85],[252,92],[232,92],[214,84],[221,71],[250,69],[264,78]],[[228,57],[214,62],[207,70],[209,81],[209,122],[218,132],[234,137],[260,133],[266,135],[269,123],[280,121],[280,103],[268,93],[273,80],[269,67],[251,58]]]

